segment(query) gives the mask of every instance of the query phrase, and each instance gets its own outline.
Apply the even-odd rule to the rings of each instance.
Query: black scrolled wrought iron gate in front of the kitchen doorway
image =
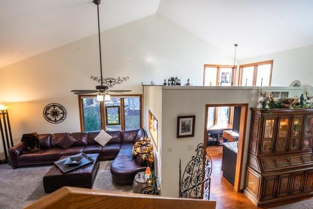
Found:
[[[182,176],[179,160],[179,197],[209,200],[212,160],[206,153],[203,143],[198,144],[196,153]]]

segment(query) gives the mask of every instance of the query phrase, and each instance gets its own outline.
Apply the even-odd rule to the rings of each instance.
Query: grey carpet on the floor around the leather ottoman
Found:
[[[121,186],[112,183],[111,163],[112,161],[100,162],[92,188],[132,192],[132,185]],[[8,164],[0,164],[0,209],[22,209],[47,195],[44,191],[43,176],[50,167],[12,169]]]

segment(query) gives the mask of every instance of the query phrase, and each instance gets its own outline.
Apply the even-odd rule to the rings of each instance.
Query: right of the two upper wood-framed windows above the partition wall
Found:
[[[239,86],[270,86],[273,60],[241,65]]]

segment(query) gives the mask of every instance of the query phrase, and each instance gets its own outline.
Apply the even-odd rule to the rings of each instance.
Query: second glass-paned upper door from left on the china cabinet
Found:
[[[278,131],[275,152],[286,152],[289,139],[291,117],[281,117],[278,120]]]

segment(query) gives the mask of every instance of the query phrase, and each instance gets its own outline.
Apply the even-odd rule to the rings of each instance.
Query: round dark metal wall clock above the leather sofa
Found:
[[[66,116],[67,111],[58,103],[51,103],[45,106],[44,117],[50,123],[60,123]]]

